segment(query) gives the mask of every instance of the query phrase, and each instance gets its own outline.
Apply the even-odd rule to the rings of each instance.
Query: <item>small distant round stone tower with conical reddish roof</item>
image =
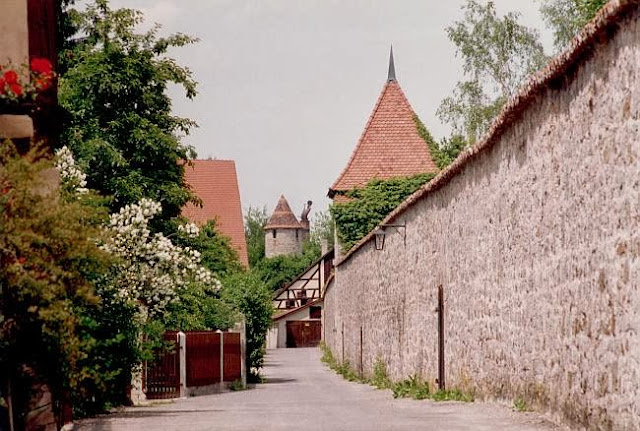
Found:
[[[264,227],[264,248],[266,257],[283,254],[302,254],[302,244],[309,238],[307,215],[311,201],[305,206],[303,223],[298,221],[284,196],[280,196],[278,205]]]

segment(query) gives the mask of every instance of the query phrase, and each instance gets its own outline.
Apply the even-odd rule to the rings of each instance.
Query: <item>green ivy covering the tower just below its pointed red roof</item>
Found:
[[[351,201],[331,206],[338,239],[344,250],[353,247],[395,207],[434,176],[435,174],[430,173],[390,180],[375,179],[364,188],[348,191],[346,196]]]

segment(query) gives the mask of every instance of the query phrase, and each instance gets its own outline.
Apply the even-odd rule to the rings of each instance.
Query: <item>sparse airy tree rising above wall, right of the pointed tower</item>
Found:
[[[537,31],[518,23],[519,14],[496,14],[493,2],[468,0],[464,18],[446,32],[462,58],[467,80],[445,98],[438,116],[455,135],[473,144],[487,130],[505,101],[547,58]]]

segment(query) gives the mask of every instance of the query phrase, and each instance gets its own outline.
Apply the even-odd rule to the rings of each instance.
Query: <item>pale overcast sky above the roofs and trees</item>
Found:
[[[199,82],[194,101],[172,89],[174,111],[200,127],[184,141],[199,158],[236,162],[243,207],[284,194],[299,215],[346,165],[387,77],[393,44],[398,82],[434,136],[435,115],[462,78],[444,28],[463,0],[112,0],[140,9],[163,33],[196,36],[172,56]],[[496,0],[540,30],[536,0]]]

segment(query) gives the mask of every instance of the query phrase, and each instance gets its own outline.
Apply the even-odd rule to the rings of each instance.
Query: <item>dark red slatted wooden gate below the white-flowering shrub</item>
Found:
[[[180,396],[180,346],[177,332],[166,332],[164,340],[174,342],[170,351],[159,351],[156,360],[144,367],[143,387],[148,399],[178,398]]]

